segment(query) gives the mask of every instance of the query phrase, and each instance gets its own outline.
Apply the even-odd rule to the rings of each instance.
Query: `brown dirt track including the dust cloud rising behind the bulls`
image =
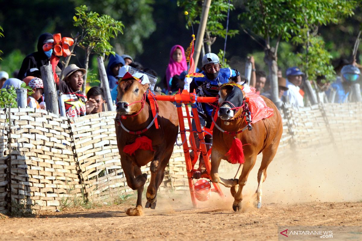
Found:
[[[118,206],[41,212],[37,218],[0,216],[0,240],[278,240],[278,226],[361,226],[362,149],[352,150],[343,158],[329,147],[279,152],[268,168],[261,209],[253,205],[258,158],[239,213],[232,211],[225,189],[225,198],[213,194],[198,209],[187,192],[160,193],[156,210],[144,210],[144,216],[126,216],[134,198]],[[234,169],[226,166],[220,175],[230,178]]]

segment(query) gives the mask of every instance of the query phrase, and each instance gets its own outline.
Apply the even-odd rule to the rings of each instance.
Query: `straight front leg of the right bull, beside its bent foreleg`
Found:
[[[256,162],[256,156],[251,156],[251,158],[245,158],[245,163],[243,166],[243,171],[239,177],[239,189],[234,195],[234,203],[232,204],[232,209],[234,211],[241,211],[241,201],[243,200],[243,188],[247,184],[248,176],[251,169],[254,167]]]

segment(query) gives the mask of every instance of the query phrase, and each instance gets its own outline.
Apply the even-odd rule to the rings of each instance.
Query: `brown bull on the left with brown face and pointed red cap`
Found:
[[[163,181],[164,170],[172,155],[178,133],[177,111],[171,102],[157,102],[159,114],[156,123],[158,122],[159,128],[156,129],[150,102],[146,100],[148,88],[148,83],[143,85],[133,77],[123,77],[117,87],[117,145],[127,184],[131,189],[137,190],[136,208],[127,210],[128,215],[142,215],[142,192],[147,174],[142,174],[140,167],[150,162],[151,178],[145,207],[156,207],[157,190]],[[142,133],[140,130],[143,130]],[[139,132],[135,133],[136,131]],[[133,154],[125,153],[124,147],[134,143],[138,137],[149,138],[152,148],[144,150],[144,145],[141,145]]]

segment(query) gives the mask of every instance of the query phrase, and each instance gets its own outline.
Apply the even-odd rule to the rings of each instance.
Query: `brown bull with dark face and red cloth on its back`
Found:
[[[245,92],[240,89],[240,86],[235,84],[223,85],[219,91],[219,111],[216,124],[220,129],[232,133],[223,133],[218,128],[213,131],[213,143],[211,152],[211,177],[213,182],[221,183],[226,187],[231,188],[231,194],[234,197],[233,210],[241,210],[241,200],[243,200],[243,187],[247,183],[248,175],[254,167],[256,157],[261,152],[263,158],[258,171],[258,188],[257,194],[257,207],[261,207],[261,185],[266,178],[266,169],[273,160],[277,152],[279,141],[282,137],[283,124],[281,115],[271,100],[261,96],[266,106],[274,110],[274,115],[252,123],[252,130],[247,129],[247,122],[244,119],[245,111],[241,107],[244,103]],[[241,118],[240,118],[241,117]],[[240,132],[243,130],[243,132]],[[236,132],[240,132],[236,134]],[[219,177],[218,168],[221,159],[228,160],[225,155],[229,151],[233,137],[240,139],[243,144],[243,152],[245,156],[245,163],[240,165],[234,179],[224,179]],[[245,145],[247,144],[247,145]],[[229,160],[230,161],[230,160]],[[242,169],[241,169],[242,167]],[[240,174],[241,171],[241,174]],[[240,176],[239,176],[240,175]],[[236,179],[239,176],[238,179]],[[237,185],[239,188],[237,189]]]

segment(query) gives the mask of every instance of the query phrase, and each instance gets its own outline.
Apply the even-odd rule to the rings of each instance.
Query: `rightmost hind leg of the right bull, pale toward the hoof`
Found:
[[[278,145],[275,147],[273,144],[268,146],[263,151],[263,159],[261,160],[261,165],[258,171],[258,188],[256,189],[256,199],[257,199],[257,208],[261,208],[261,185],[266,179],[266,168],[268,168],[268,165],[273,160],[275,154],[277,153]]]

